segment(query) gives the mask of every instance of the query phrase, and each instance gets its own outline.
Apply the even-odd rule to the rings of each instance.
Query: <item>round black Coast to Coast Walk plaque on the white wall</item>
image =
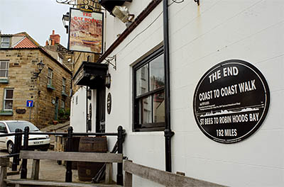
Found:
[[[234,143],[258,130],[269,103],[268,84],[261,72],[249,62],[228,60],[200,79],[193,110],[198,127],[207,137]]]

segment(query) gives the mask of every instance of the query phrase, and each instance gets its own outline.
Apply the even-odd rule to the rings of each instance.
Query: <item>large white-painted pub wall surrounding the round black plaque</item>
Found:
[[[142,10],[146,5],[133,1],[129,9]],[[173,172],[226,186],[284,186],[283,10],[281,0],[202,0],[200,6],[185,0],[169,6]],[[163,132],[132,132],[132,65],[163,41],[162,11],[160,4],[111,53],[116,55],[117,69],[109,67],[107,94],[111,93],[112,106],[111,114],[106,113],[107,132],[116,132],[118,125],[126,129],[124,154],[157,169],[165,169]],[[121,29],[116,33],[116,27],[123,23],[112,23],[113,35],[119,34]],[[202,75],[231,59],[251,62],[263,73],[271,106],[251,137],[224,145],[210,140],[197,127],[192,101]],[[114,142],[109,140],[110,145]],[[158,186],[138,177],[133,182],[134,186]]]

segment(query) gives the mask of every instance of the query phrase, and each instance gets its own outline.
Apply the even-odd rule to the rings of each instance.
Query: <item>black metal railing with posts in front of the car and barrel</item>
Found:
[[[67,132],[30,132],[29,128],[26,127],[24,131],[20,129],[16,129],[14,133],[10,133],[9,135],[0,135],[0,137],[9,137],[14,136],[14,145],[13,145],[13,153],[10,155],[6,155],[5,157],[13,157],[12,163],[12,171],[17,170],[17,166],[20,162],[19,153],[21,150],[28,150],[28,137],[29,135],[61,135],[63,137],[67,137],[67,145],[66,152],[72,151],[72,137],[75,136],[116,136],[117,137],[117,153],[123,154],[123,142],[124,136],[126,135],[125,130],[119,126],[117,128],[117,132],[73,132],[73,128],[68,128]],[[23,146],[22,146],[22,136],[23,136]],[[119,185],[123,185],[123,168],[122,163],[117,163],[117,174],[116,174],[116,183]],[[22,160],[21,166],[21,179],[27,178],[27,159]],[[65,181],[72,182],[72,162],[66,162],[66,174]]]

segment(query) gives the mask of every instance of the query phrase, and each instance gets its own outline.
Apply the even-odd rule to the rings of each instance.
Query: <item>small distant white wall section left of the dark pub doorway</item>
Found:
[[[73,132],[86,132],[85,86],[82,86],[71,98],[70,125],[73,128]]]

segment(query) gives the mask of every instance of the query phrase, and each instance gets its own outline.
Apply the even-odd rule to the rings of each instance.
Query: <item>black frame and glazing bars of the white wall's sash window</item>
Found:
[[[151,55],[148,55],[145,57],[141,62],[138,62],[133,66],[133,85],[132,85],[132,101],[133,101],[133,125],[132,125],[132,130],[133,132],[153,132],[153,131],[164,131],[165,130],[165,121],[162,123],[143,123],[143,128],[141,127],[141,124],[139,124],[139,119],[140,119],[140,106],[138,105],[138,102],[141,101],[139,99],[141,98],[147,98],[147,96],[152,96],[152,103],[153,103],[153,96],[155,94],[164,94],[164,102],[165,102],[165,85],[163,87],[160,87],[158,89],[155,89],[153,91],[148,91],[146,94],[141,94],[140,96],[136,96],[136,71],[143,67],[146,64],[150,64],[153,60],[155,60],[157,57],[160,57],[160,55],[164,55],[164,50],[163,47],[160,47],[158,50],[155,50],[155,52],[151,53]],[[150,65],[149,65],[150,69]],[[164,66],[165,69],[165,66]],[[164,74],[165,76],[165,74]],[[150,75],[148,75],[150,77]],[[150,81],[150,78],[149,78]],[[150,85],[149,85],[150,86]],[[149,87],[150,89],[150,87]],[[151,106],[152,108],[152,118],[153,118],[153,105]]]

